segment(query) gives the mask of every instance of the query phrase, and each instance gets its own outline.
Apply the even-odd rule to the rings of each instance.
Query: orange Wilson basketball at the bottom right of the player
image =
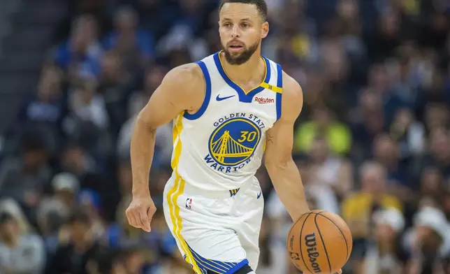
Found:
[[[287,237],[292,263],[303,273],[335,273],[351,254],[349,226],[334,213],[312,210],[297,219]]]

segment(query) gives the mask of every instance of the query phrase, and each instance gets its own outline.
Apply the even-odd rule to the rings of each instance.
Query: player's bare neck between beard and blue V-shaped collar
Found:
[[[250,57],[247,62],[240,65],[228,64],[223,55],[221,59],[223,60],[222,66],[224,66],[226,74],[234,82],[248,82],[254,80],[255,75],[260,74],[256,72],[259,72],[261,70],[261,74],[263,74],[264,71],[266,71],[266,68],[264,66],[261,66],[263,62],[261,61],[261,52],[259,51],[254,52],[254,55],[252,55],[252,57]]]

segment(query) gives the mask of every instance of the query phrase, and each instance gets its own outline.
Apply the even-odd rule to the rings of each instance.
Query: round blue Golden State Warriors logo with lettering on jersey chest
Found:
[[[237,171],[251,161],[264,127],[254,115],[246,117],[245,113],[236,113],[231,116],[225,117],[222,124],[217,122],[208,142],[210,154],[205,157],[207,164],[225,173]]]

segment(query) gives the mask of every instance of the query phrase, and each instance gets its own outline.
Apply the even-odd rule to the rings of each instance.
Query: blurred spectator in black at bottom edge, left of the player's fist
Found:
[[[49,259],[46,274],[88,274],[87,265],[94,261],[100,250],[99,243],[91,231],[89,216],[82,211],[75,211],[68,219],[70,242],[60,245]]]

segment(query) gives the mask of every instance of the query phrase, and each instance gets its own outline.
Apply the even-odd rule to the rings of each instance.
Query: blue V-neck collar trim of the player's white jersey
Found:
[[[233,88],[238,93],[239,101],[244,102],[244,103],[252,103],[253,97],[256,94],[259,94],[259,92],[262,92],[264,90],[264,87],[261,87],[261,86],[255,87],[254,89],[252,89],[251,91],[249,91],[246,94],[244,89],[242,89],[242,87],[240,87],[238,84],[233,82],[233,80],[228,78],[228,75],[226,75],[226,73],[224,71],[224,67],[222,66],[222,62],[220,61],[219,53],[220,52],[216,52],[214,55],[214,62],[216,64],[217,71],[219,71],[222,78],[224,78],[224,81],[226,82],[226,84],[228,84],[231,88]],[[264,78],[264,82],[269,83],[269,81],[270,81],[270,63],[266,57],[263,57],[263,59],[264,59],[264,62],[266,62],[266,78]]]

